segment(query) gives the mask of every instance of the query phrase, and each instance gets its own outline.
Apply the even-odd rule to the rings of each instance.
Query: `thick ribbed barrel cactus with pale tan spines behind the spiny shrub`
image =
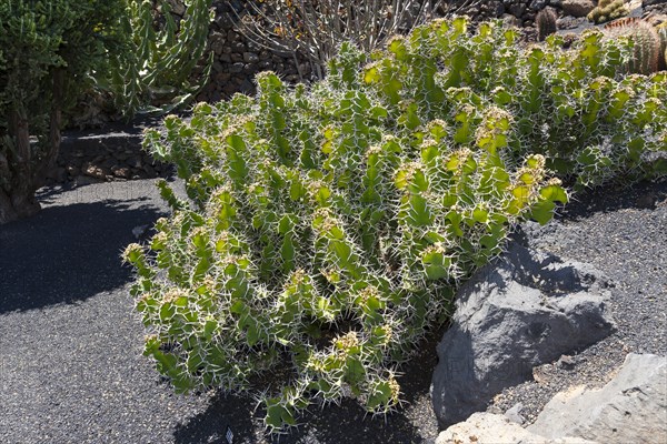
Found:
[[[656,72],[663,58],[660,36],[650,23],[627,18],[605,26],[605,34],[613,39],[627,38],[633,44],[628,72],[649,74]]]

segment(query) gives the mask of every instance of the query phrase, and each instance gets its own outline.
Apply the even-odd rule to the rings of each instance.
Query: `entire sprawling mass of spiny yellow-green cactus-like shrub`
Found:
[[[271,432],[312,400],[387,413],[456,286],[567,201],[546,165],[580,186],[659,173],[664,73],[615,79],[631,48],[600,32],[574,52],[516,39],[435,21],[382,52],[344,44],[309,90],[262,73],[256,99],[149,131],[189,196],[161,182],[173,215],[125,252],[159,372],[263,393]]]

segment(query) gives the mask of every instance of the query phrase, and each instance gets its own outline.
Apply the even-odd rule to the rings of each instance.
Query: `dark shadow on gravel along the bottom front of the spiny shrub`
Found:
[[[261,406],[253,413],[256,401],[251,396],[217,394],[203,413],[177,426],[175,443],[227,444],[225,432],[228,426],[233,433],[233,443],[243,444],[258,443],[259,436],[263,436],[261,442],[279,444],[424,443],[435,440],[437,423],[428,393],[438,361],[436,345],[444,332],[445,329],[439,329],[429,334],[420,345],[421,352],[401,369],[398,382],[406,404],[386,420],[374,418],[357,401],[344,398],[340,405],[321,410],[311,405],[308,413],[297,418],[302,425],[269,441],[262,435]],[[415,410],[410,412],[412,406]]]

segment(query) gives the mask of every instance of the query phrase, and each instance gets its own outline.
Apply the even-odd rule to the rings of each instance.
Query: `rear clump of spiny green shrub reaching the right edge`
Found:
[[[390,42],[365,75],[384,101],[414,103],[416,125],[456,114],[461,141],[479,110],[502,108],[514,117],[508,154],[544,154],[577,189],[665,173],[651,153],[666,149],[666,73],[625,75],[631,40],[591,30],[564,51],[559,36],[525,49],[517,37],[485,23],[468,38],[462,19],[434,22]]]

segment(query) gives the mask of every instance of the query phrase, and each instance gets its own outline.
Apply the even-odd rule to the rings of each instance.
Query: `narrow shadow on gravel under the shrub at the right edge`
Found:
[[[667,201],[667,180],[631,186],[609,185],[580,192],[560,211],[561,219],[578,220],[593,213],[618,210],[654,210]]]

